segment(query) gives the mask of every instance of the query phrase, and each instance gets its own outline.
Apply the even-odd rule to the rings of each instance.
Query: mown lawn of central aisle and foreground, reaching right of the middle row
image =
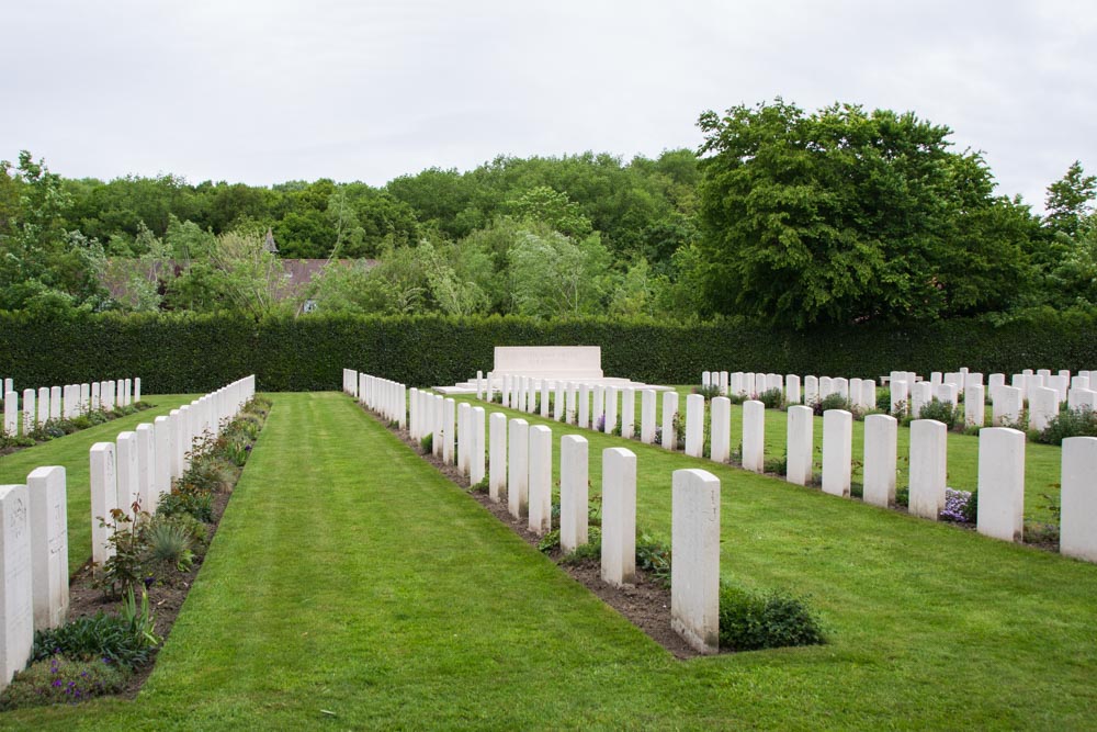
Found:
[[[138,699],[8,713],[0,724],[1097,724],[1097,566],[630,443],[641,526],[669,536],[671,471],[711,470],[723,482],[722,574],[810,594],[833,637],[678,662],[350,398],[273,398]],[[572,431],[554,426],[555,452]],[[586,436],[597,493],[601,449],[623,441]]]

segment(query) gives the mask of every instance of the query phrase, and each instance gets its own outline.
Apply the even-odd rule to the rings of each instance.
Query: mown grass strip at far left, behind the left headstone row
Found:
[[[154,405],[150,409],[0,457],[0,484],[26,483],[27,474],[43,465],[65,466],[70,573],[76,574],[91,559],[91,446],[112,442],[118,432],[132,430],[142,423],[151,424],[179,405],[190,404],[193,398],[182,394],[145,394],[143,401]]]

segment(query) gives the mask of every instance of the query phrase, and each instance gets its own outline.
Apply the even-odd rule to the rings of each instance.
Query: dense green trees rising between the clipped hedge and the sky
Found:
[[[24,151],[0,164],[0,309],[262,316],[307,299],[805,328],[1097,305],[1097,179],[1078,161],[1038,215],[913,113],[777,99],[699,125],[698,151],[499,157],[380,188],[67,179]],[[286,299],[279,257],[330,263]]]

